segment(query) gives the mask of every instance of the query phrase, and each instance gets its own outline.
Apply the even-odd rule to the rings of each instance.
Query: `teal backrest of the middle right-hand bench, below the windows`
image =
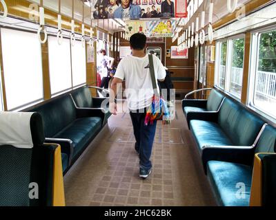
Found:
[[[218,123],[237,146],[253,145],[264,125],[264,121],[257,115],[230,98],[226,98],[221,105]]]

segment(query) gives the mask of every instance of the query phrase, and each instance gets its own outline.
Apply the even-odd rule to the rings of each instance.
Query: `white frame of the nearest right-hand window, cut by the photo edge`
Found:
[[[248,96],[246,105],[256,111],[264,118],[276,123],[276,117],[271,115],[268,111],[257,107],[254,103],[255,100],[255,86],[256,86],[256,74],[259,67],[259,43],[260,36],[264,33],[276,31],[276,25],[270,25],[266,28],[261,28],[251,32],[250,41],[250,65],[249,65],[249,75],[248,75]]]

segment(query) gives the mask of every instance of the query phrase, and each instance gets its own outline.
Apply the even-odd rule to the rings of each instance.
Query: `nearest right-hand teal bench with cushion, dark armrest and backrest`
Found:
[[[266,125],[257,145],[253,148],[221,146],[207,148],[208,153],[203,152],[207,176],[219,206],[249,206],[252,196],[253,159],[258,153],[262,153],[260,159],[270,159],[269,168],[264,166],[262,171],[263,184],[262,188],[259,188],[264,194],[262,203],[264,206],[276,203],[276,155],[268,154],[275,153],[275,140],[276,129]]]

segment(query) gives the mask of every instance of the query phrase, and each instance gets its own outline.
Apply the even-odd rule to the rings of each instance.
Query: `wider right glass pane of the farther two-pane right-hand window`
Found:
[[[244,75],[244,39],[233,39],[230,73],[230,94],[241,98]]]

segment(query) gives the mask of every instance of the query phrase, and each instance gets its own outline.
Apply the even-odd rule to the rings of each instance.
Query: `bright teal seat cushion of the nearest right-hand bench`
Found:
[[[219,206],[249,206],[252,168],[209,161],[207,175]],[[245,191],[241,186],[245,186]]]

